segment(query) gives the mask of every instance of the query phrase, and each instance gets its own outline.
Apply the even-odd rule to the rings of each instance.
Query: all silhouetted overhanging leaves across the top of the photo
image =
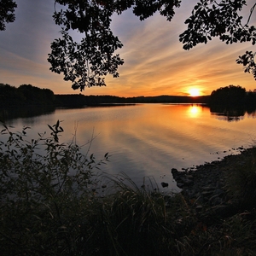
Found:
[[[121,15],[132,9],[140,20],[159,12],[171,21],[181,0],[55,0],[53,18],[61,26],[61,38],[51,44],[48,61],[50,70],[63,73],[64,80],[71,81],[73,89],[106,85],[107,74],[119,77],[118,67],[124,60],[115,54],[123,47],[119,38],[110,28],[113,14]],[[190,17],[185,20],[188,28],[180,34],[183,49],[191,49],[197,44],[207,44],[218,37],[226,44],[256,43],[256,27],[249,25],[256,3],[248,17],[241,15],[247,6],[246,0],[200,0],[195,4]],[[4,22],[14,21],[13,0],[3,1],[0,18]],[[8,17],[8,18],[7,18]],[[0,20],[1,25],[1,20]],[[1,28],[1,27],[0,27]],[[2,29],[3,30],[3,29]],[[82,38],[76,41],[71,31],[80,32]],[[247,73],[256,79],[255,53],[247,51],[236,62],[242,64]]]

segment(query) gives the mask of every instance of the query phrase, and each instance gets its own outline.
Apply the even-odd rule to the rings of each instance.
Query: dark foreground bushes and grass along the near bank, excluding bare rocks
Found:
[[[28,127],[10,129],[1,132],[1,255],[255,255],[256,148],[216,167],[223,214],[188,193],[160,193],[154,179],[103,177],[108,154],[96,161],[75,139],[62,143],[59,122],[30,141]]]

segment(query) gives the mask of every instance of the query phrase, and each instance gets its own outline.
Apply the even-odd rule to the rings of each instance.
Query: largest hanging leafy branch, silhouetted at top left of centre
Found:
[[[108,73],[114,78],[119,77],[117,69],[124,63],[118,54],[114,54],[123,44],[111,31],[111,16],[132,8],[140,20],[154,15],[156,11],[172,20],[174,7],[179,7],[180,2],[56,0],[55,3],[65,6],[65,9],[57,9],[55,5],[54,20],[61,26],[61,38],[51,44],[50,70],[63,73],[64,80],[73,83],[73,89],[106,85],[104,77]],[[70,30],[83,34],[79,43],[70,35]]]

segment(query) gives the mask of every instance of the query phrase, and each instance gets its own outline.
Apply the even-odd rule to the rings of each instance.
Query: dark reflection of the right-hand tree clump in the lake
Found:
[[[241,106],[227,108],[223,106],[212,106],[210,108],[212,115],[217,119],[226,120],[228,122],[240,121],[247,114],[248,118],[256,118],[256,108],[243,108]]]

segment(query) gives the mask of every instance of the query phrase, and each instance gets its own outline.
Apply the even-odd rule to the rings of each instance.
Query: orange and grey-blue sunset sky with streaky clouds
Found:
[[[61,30],[52,19],[54,0],[15,1],[16,20],[0,32],[0,83],[16,87],[32,84],[55,94],[81,93],[73,90],[71,82],[64,81],[61,74],[49,71],[50,43],[60,37]],[[214,38],[189,51],[183,49],[178,36],[186,29],[184,20],[197,2],[183,0],[171,22],[159,14],[140,21],[131,10],[113,15],[113,33],[124,44],[116,53],[125,64],[119,67],[119,78],[108,75],[107,86],[85,88],[82,94],[188,96],[194,89],[201,95],[209,95],[212,90],[230,84],[254,90],[253,75],[244,73],[243,67],[236,64],[237,57],[246,50],[255,51],[252,44],[227,45]],[[247,1],[246,16],[253,3]],[[252,21],[255,26],[255,14]]]

